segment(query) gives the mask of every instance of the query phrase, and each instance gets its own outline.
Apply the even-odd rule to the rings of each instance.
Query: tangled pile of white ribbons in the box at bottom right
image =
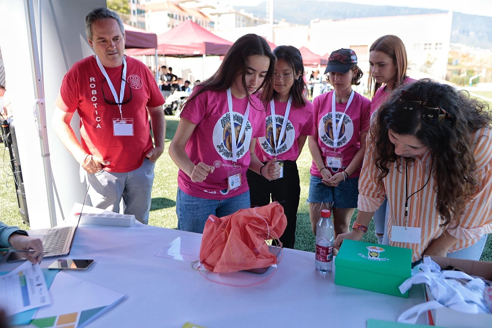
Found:
[[[398,317],[398,322],[415,324],[421,313],[443,306],[466,313],[490,313],[483,301],[485,283],[482,279],[473,278],[461,271],[441,272],[439,266],[429,258],[425,258],[424,262],[412,269],[412,276],[400,285],[400,292],[405,293],[412,284],[424,283],[429,286],[435,300],[406,310]],[[469,282],[463,285],[456,279],[466,279]]]

